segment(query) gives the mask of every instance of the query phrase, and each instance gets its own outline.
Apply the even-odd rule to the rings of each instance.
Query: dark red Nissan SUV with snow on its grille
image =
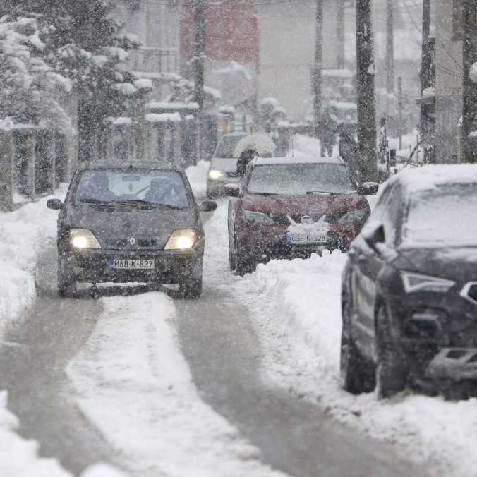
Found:
[[[339,157],[253,159],[239,185],[226,186],[238,197],[229,203],[231,270],[244,274],[272,258],[348,250],[370,215],[364,196],[377,191],[377,183],[352,183]]]

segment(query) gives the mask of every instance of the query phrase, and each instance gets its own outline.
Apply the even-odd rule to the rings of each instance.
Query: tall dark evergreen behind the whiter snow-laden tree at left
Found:
[[[37,18],[42,59],[70,78],[78,93],[80,159],[87,159],[108,116],[124,109],[138,88],[126,70],[128,51],[138,47],[134,35],[122,32],[107,0],[4,0],[4,11],[16,18]],[[0,7],[0,12],[2,7]]]

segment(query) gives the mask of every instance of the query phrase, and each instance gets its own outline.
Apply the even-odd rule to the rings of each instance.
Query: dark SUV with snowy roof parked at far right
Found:
[[[342,279],[342,385],[431,390],[477,382],[477,166],[387,181]]]

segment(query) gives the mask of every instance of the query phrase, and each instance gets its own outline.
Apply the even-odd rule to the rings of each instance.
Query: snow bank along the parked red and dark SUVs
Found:
[[[393,442],[407,458],[435,473],[475,476],[477,399],[449,402],[401,394],[377,401],[339,387],[341,272],[346,255],[335,251],[308,260],[258,265],[236,277],[227,270],[227,205],[207,223],[205,274],[231,287],[251,310],[264,358],[262,376],[297,397],[317,402],[340,421]]]

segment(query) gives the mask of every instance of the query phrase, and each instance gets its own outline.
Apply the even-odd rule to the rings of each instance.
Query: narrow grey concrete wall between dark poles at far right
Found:
[[[459,155],[462,110],[462,42],[454,40],[452,1],[435,0],[435,138],[437,162]]]

